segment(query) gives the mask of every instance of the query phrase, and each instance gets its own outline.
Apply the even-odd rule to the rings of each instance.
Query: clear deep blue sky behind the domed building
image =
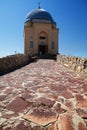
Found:
[[[0,0],[0,57],[24,52],[24,21],[38,2],[60,29],[59,52],[87,57],[87,0]]]

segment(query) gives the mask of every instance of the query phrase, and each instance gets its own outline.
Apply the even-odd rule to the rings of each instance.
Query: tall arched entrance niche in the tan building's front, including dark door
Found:
[[[39,45],[38,45],[38,54],[45,55],[48,53],[48,38],[47,34],[42,31],[39,34]]]

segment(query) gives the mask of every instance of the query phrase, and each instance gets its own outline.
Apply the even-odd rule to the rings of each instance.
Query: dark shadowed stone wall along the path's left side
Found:
[[[29,58],[24,54],[16,54],[0,58],[0,75],[18,69],[28,63]]]

